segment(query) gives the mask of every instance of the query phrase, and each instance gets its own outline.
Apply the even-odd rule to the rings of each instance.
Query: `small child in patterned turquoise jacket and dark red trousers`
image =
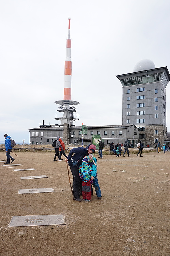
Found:
[[[91,183],[95,179],[95,176],[92,176],[92,168],[88,164],[89,156],[85,156],[82,160],[82,165],[79,167],[79,176],[82,179],[82,195],[83,201],[85,203],[91,200]]]

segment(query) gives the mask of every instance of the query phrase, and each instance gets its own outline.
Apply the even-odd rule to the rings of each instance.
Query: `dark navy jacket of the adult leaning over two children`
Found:
[[[79,167],[82,164],[82,160],[83,160],[84,156],[87,155],[88,148],[89,148],[90,145],[91,144],[89,144],[87,147],[72,148],[70,150],[70,153],[68,154],[68,157],[67,157],[69,166],[71,166],[72,163],[74,161],[76,161],[76,162],[78,162],[77,166]]]

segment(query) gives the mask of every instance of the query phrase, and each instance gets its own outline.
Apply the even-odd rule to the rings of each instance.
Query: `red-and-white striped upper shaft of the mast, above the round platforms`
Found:
[[[70,19],[68,19],[68,39],[66,44],[66,60],[64,63],[64,100],[71,100],[71,39]]]

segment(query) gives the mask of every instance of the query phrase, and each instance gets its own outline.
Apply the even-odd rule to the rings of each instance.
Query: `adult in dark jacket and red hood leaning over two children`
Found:
[[[80,195],[82,195],[82,180],[79,177],[79,166],[82,164],[83,158],[86,155],[93,154],[95,150],[96,146],[93,144],[89,144],[87,147],[72,148],[65,160],[68,162],[73,175],[73,193],[76,201],[82,201],[80,198]]]

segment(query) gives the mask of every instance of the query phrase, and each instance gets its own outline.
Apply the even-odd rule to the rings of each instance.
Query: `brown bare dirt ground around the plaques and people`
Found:
[[[53,162],[53,153],[17,155],[14,163],[22,166],[0,163],[1,256],[170,256],[170,152],[103,156],[97,168],[102,200],[93,195],[89,203],[72,200],[66,163]],[[23,168],[36,170],[13,171]],[[37,175],[48,178],[20,179]],[[18,194],[29,188],[55,193]],[[7,227],[12,216],[45,214],[64,214],[66,225]]]

